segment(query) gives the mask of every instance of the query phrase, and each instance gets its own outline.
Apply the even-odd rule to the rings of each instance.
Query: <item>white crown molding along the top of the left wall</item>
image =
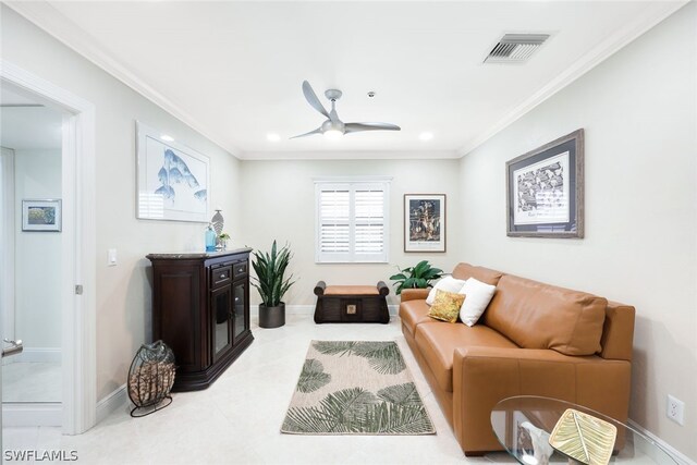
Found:
[[[234,157],[240,158],[243,154],[239,147],[209,132],[179,105],[145,83],[126,65],[96,45],[99,44],[98,40],[65,17],[49,2],[40,0],[3,3]]]

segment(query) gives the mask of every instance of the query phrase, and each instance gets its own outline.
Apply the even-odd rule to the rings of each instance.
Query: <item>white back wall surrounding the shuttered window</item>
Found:
[[[243,164],[245,235],[244,244],[269,250],[276,238],[289,242],[294,253],[291,271],[297,277],[284,301],[289,305],[315,305],[315,284],[375,284],[382,280],[391,286],[390,276],[401,268],[428,259],[450,272],[458,261],[454,243],[456,222],[450,219],[460,210],[457,203],[458,160],[294,160],[248,161]],[[315,184],[317,176],[387,175],[390,185],[389,264],[315,264]],[[404,194],[445,194],[448,249],[445,254],[404,253]],[[234,238],[234,237],[233,237]],[[389,301],[396,303],[390,287]],[[256,290],[252,303],[258,304]],[[253,313],[256,308],[253,307]]]

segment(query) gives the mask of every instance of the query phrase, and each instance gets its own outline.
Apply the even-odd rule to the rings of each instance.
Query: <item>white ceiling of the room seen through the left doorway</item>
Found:
[[[29,97],[0,87],[0,145],[15,150],[60,149],[61,113]],[[32,106],[32,107],[29,107]]]

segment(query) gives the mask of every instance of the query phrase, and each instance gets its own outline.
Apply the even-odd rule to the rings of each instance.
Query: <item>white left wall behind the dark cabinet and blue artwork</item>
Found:
[[[204,224],[135,218],[135,120],[210,157],[210,205],[220,205],[232,220],[225,229],[233,237],[244,227],[234,221],[241,215],[240,163],[12,10],[1,9],[2,58],[96,106],[97,399],[103,399],[126,381],[136,350],[150,339],[145,255],[204,248]],[[108,248],[118,249],[115,267],[107,267]]]

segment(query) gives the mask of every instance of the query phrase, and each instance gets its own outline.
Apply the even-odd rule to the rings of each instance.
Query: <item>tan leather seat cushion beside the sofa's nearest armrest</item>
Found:
[[[453,391],[453,357],[456,347],[517,347],[513,342],[486,326],[418,325],[414,339],[443,391]]]

